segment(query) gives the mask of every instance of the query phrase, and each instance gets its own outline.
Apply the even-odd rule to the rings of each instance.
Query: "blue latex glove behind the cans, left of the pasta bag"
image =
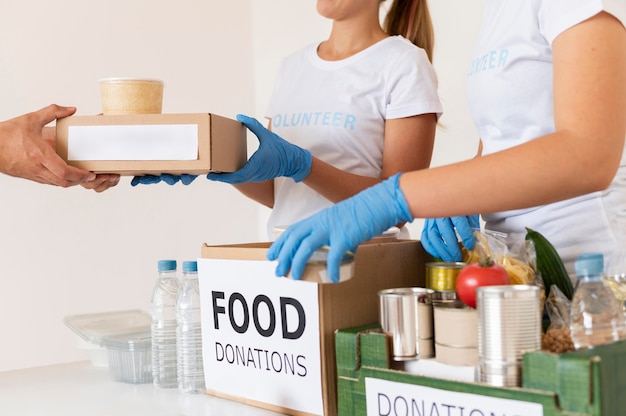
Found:
[[[428,218],[422,230],[422,246],[443,261],[461,261],[459,237],[466,249],[474,248],[474,231],[480,228],[478,215],[452,218]]]

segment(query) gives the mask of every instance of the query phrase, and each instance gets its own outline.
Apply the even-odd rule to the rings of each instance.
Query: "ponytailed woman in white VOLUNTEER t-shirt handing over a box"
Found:
[[[238,116],[259,136],[259,150],[238,172],[208,175],[272,208],[271,239],[275,226],[430,165],[442,106],[427,3],[396,0],[385,30],[380,3],[318,0],[331,34],[284,60],[266,114],[285,140]]]

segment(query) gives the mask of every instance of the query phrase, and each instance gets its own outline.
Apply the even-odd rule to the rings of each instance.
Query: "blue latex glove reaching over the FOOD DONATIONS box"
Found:
[[[276,275],[285,276],[291,269],[292,278],[300,279],[309,257],[327,245],[328,276],[338,282],[346,252],[355,253],[360,243],[413,220],[399,179],[396,174],[287,228],[267,252],[269,260],[278,259]]]

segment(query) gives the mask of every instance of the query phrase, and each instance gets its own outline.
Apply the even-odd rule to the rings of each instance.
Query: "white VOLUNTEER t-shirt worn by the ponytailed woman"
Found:
[[[266,114],[272,130],[338,169],[378,178],[385,120],[442,113],[433,67],[424,50],[400,36],[340,61],[320,59],[317,47],[282,63]],[[331,205],[305,184],[277,178],[268,235]]]

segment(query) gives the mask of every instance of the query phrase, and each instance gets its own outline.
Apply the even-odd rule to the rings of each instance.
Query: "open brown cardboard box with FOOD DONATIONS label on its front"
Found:
[[[354,276],[321,283],[275,276],[270,243],[202,248],[198,261],[207,392],[294,415],[337,414],[334,333],[377,322],[378,291],[423,286],[414,240],[359,246]]]

